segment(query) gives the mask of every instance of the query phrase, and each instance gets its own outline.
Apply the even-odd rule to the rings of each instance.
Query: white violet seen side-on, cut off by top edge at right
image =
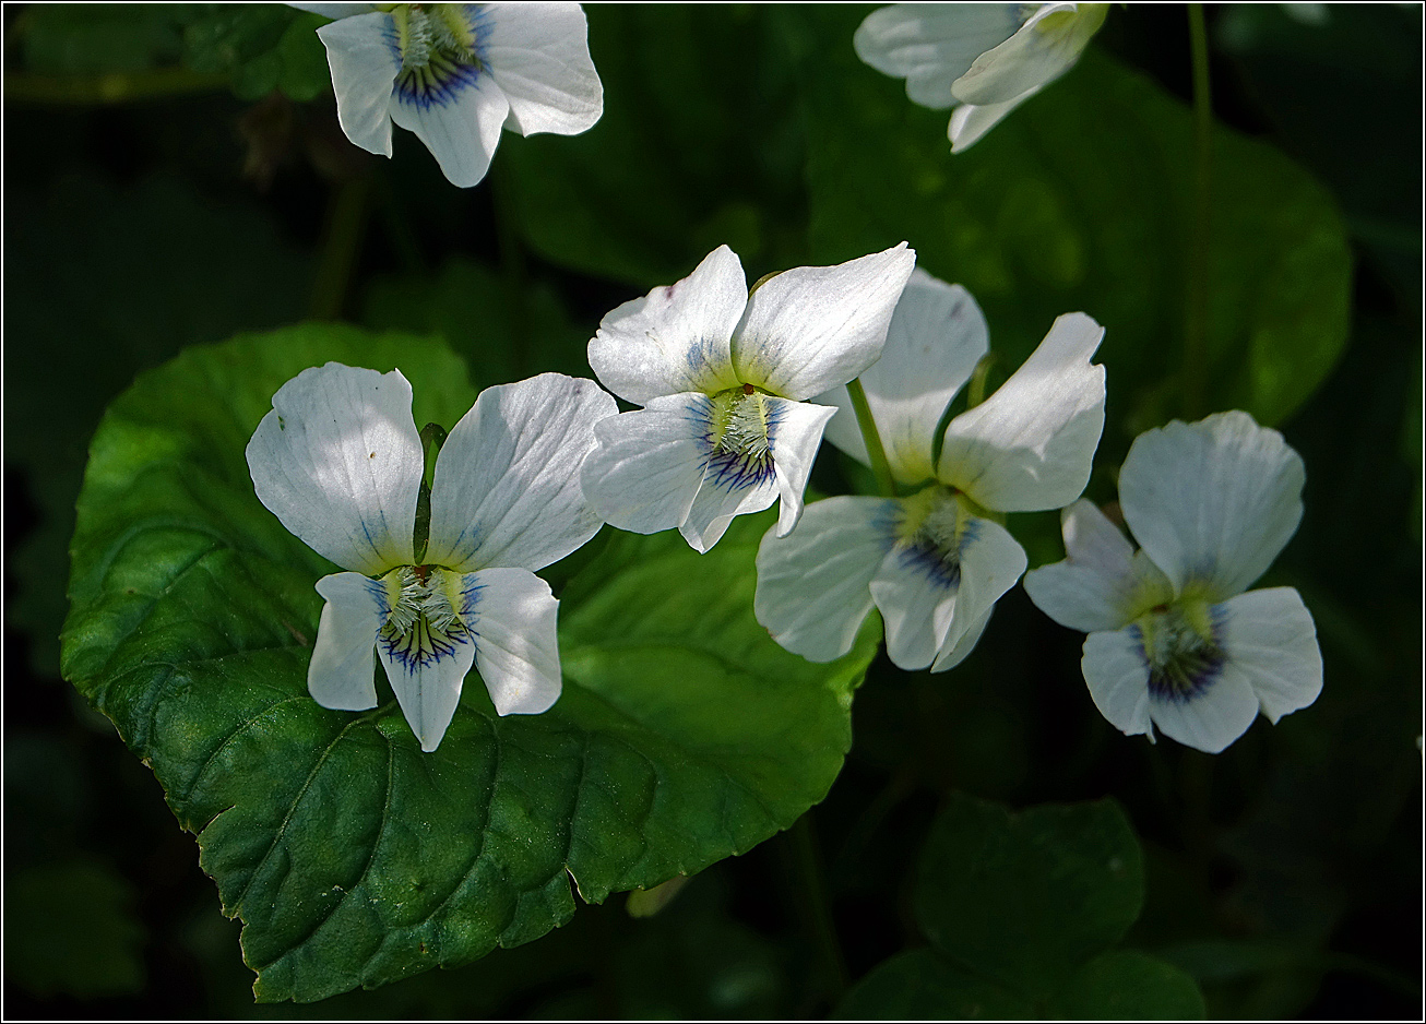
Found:
[[[857,56],[906,78],[913,103],[953,108],[951,153],[1062,76],[1104,24],[1109,4],[898,3],[871,11]]]

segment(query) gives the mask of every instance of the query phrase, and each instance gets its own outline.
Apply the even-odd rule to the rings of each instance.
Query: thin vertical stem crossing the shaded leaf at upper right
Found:
[[[1204,4],[1188,6],[1194,60],[1194,205],[1189,225],[1188,282],[1184,302],[1184,406],[1189,419],[1204,414],[1208,375],[1208,255],[1212,215],[1214,103],[1208,83],[1208,30]]]

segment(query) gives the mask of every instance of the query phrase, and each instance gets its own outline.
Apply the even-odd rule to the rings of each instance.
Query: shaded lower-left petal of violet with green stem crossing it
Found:
[[[811,662],[851,650],[894,519],[890,499],[829,498],[809,505],[787,536],[763,535],[753,615],[777,643]]]

